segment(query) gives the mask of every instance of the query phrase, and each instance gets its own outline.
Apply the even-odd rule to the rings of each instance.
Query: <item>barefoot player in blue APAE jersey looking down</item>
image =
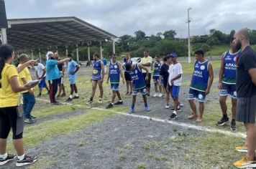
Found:
[[[188,116],[188,119],[196,118],[196,122],[201,122],[204,114],[204,101],[206,100],[206,95],[210,93],[211,84],[214,81],[214,71],[211,63],[204,58],[203,49],[197,49],[195,55],[196,62],[194,64],[191,87],[188,92],[188,102],[193,115]],[[196,112],[195,99],[199,102],[199,115]]]

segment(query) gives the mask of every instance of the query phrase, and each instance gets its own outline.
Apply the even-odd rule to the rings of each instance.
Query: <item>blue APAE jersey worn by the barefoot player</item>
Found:
[[[201,63],[196,61],[194,64],[193,77],[191,80],[191,89],[205,92],[208,86],[209,72],[208,72],[209,61]]]

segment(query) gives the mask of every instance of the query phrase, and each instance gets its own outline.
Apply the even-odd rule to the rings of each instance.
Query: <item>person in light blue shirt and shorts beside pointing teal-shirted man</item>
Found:
[[[72,54],[68,54],[67,56],[70,58],[68,61],[68,79],[70,82],[70,96],[66,100],[66,102],[70,102],[73,99],[78,99],[78,88],[76,87],[76,78],[78,77],[78,69],[80,68],[79,65],[72,59]],[[75,96],[73,96],[73,93],[75,92]]]

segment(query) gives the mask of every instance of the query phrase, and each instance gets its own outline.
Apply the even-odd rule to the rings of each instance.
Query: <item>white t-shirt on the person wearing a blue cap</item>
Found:
[[[169,82],[169,84],[171,86],[172,84],[170,83],[170,80],[173,79],[173,77],[176,77],[178,74],[183,74],[181,64],[180,63],[170,64],[168,72],[169,72],[168,82]],[[173,81],[173,84],[175,86],[180,86],[181,85],[181,81],[182,81],[182,76],[180,78],[178,78],[178,79],[175,79]]]

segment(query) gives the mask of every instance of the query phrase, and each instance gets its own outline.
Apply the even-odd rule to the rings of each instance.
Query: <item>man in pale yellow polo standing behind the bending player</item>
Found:
[[[146,87],[147,87],[147,97],[150,97],[150,79],[151,79],[151,65],[152,65],[152,57],[150,57],[148,55],[148,50],[145,49],[144,52],[144,57],[142,57],[140,63],[142,64],[142,66],[146,67],[147,70],[148,70],[148,79],[146,80],[146,71],[144,69],[142,69],[142,73],[143,73],[143,76],[144,76],[144,79],[145,79],[145,83],[146,83]]]

